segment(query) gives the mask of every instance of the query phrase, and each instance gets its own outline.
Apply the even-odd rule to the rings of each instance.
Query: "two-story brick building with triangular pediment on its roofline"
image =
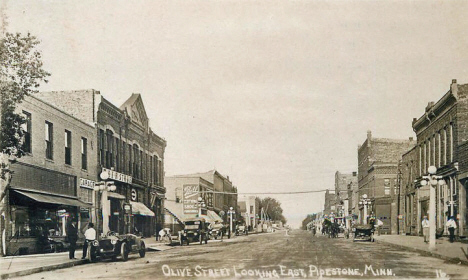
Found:
[[[96,173],[108,174],[115,192],[102,192],[99,201],[102,231],[141,233],[159,231],[164,219],[164,152],[166,141],[149,126],[140,94],[120,107],[96,90],[41,92],[40,98],[92,124]],[[96,178],[96,180],[105,180]],[[105,198],[107,196],[107,199]],[[104,198],[103,198],[104,197]],[[131,209],[131,210],[130,210]]]

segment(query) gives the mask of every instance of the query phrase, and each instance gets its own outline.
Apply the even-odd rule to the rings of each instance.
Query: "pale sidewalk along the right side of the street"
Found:
[[[429,250],[429,244],[424,243],[424,238],[409,235],[380,235],[374,236],[376,242],[385,243],[399,247],[404,250],[420,253],[443,259],[446,261],[468,265],[468,244],[461,242],[450,243],[446,239],[436,240],[436,249]]]

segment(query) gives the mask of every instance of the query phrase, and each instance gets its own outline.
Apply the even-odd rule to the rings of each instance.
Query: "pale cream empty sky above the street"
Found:
[[[140,93],[167,141],[166,175],[217,169],[239,193],[334,189],[368,130],[411,127],[468,83],[464,1],[0,0],[37,36],[41,91]],[[324,193],[269,195],[292,226]]]

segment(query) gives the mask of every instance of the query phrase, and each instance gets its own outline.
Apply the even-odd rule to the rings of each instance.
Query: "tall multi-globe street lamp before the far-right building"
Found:
[[[435,213],[435,192],[437,185],[445,185],[445,181],[442,176],[435,175],[437,173],[437,167],[429,166],[427,169],[429,175],[422,176],[421,186],[431,184],[429,192],[429,249],[435,249],[435,234],[436,234],[436,213]]]

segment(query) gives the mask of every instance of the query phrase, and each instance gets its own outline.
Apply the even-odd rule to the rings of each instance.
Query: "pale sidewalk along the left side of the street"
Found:
[[[172,248],[156,241],[154,238],[145,238],[143,240],[147,250],[164,251]],[[83,251],[79,248],[75,251],[76,260],[70,260],[68,252],[3,257],[0,258],[0,279],[82,265],[87,263],[81,260],[82,255]]]

